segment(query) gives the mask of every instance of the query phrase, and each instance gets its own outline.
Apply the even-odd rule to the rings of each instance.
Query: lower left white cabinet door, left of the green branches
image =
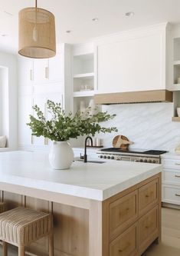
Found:
[[[18,101],[18,144],[31,145],[31,129],[26,125],[32,114],[31,95],[21,96]]]

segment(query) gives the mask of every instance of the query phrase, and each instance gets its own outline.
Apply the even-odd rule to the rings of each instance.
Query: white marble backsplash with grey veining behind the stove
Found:
[[[118,133],[98,135],[104,147],[111,147],[114,136],[125,135],[131,148],[174,151],[180,144],[180,122],[172,121],[172,103],[103,105],[103,111],[116,114],[104,126],[116,126]]]

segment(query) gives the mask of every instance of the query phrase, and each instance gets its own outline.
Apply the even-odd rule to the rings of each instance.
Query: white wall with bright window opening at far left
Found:
[[[18,76],[17,57],[0,52],[1,75],[1,133],[8,136],[8,147],[18,148]]]

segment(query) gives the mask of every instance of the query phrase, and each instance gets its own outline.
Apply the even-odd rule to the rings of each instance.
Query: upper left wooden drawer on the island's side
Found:
[[[110,238],[124,231],[128,225],[133,224],[138,216],[138,191],[113,201],[110,204]]]

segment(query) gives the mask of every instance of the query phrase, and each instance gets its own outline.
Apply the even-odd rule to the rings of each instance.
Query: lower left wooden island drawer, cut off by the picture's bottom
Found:
[[[136,256],[138,254],[137,223],[110,243],[110,256]]]

